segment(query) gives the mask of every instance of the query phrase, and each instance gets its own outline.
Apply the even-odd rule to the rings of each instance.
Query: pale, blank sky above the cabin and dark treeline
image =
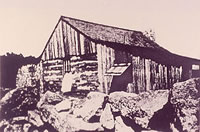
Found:
[[[0,0],[0,55],[38,57],[61,15],[153,29],[160,46],[200,59],[200,0]]]

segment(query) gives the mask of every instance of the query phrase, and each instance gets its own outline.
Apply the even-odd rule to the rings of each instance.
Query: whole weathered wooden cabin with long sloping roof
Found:
[[[75,72],[78,88],[101,92],[167,89],[200,60],[169,52],[140,31],[61,16],[40,56],[43,82]]]

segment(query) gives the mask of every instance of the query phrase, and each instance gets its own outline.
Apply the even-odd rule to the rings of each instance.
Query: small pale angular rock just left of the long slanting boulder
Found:
[[[37,127],[44,125],[40,118],[40,112],[37,110],[28,111],[28,121]]]

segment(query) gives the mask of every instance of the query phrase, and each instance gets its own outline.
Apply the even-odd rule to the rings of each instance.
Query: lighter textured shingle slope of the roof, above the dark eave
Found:
[[[93,40],[167,51],[140,31],[87,22],[65,16],[62,16],[61,19]]]

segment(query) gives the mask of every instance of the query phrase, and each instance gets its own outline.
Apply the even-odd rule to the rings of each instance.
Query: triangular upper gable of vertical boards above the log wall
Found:
[[[96,53],[96,44],[66,22],[60,21],[51,34],[42,60],[69,59]]]

